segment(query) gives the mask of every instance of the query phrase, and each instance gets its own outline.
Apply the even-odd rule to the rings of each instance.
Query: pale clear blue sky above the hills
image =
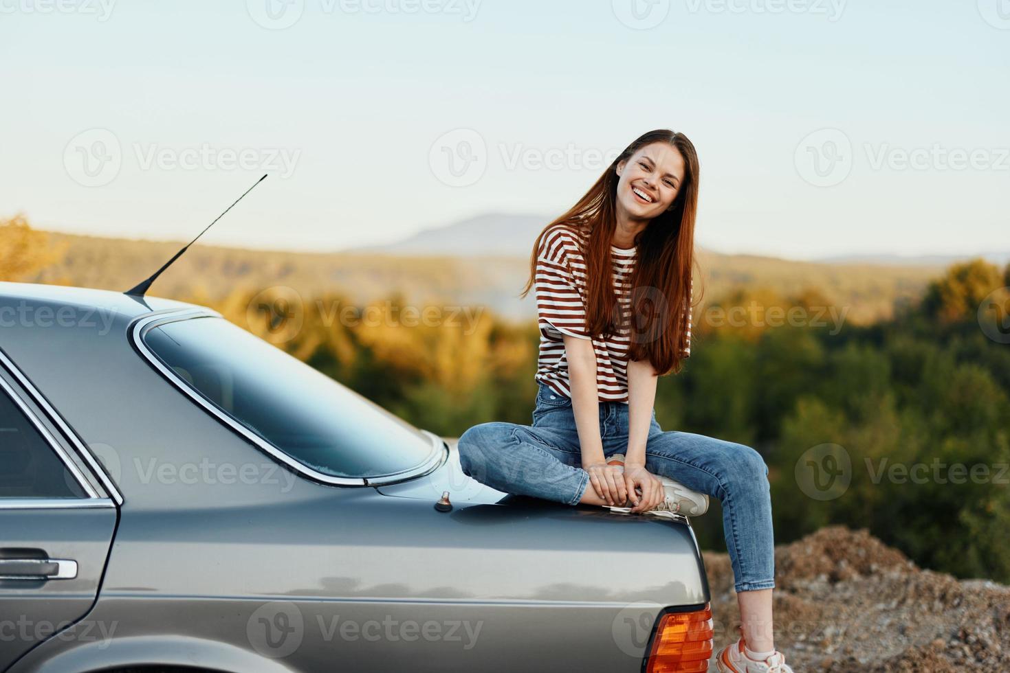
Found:
[[[333,251],[684,132],[725,252],[1010,249],[1010,0],[0,0],[0,217]]]

